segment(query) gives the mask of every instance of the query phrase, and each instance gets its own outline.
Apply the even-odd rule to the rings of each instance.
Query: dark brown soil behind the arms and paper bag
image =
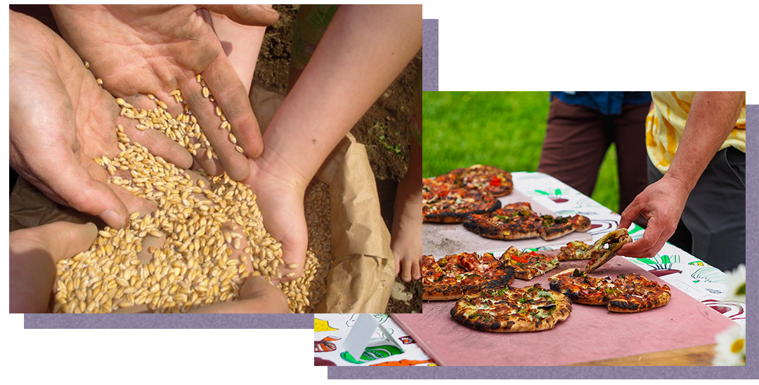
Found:
[[[287,92],[290,67],[290,46],[298,5],[274,5],[279,21],[266,29],[263,45],[256,65],[254,80],[278,92]],[[392,204],[395,186],[405,175],[411,145],[411,111],[414,105],[414,75],[421,65],[418,54],[379,99],[361,117],[351,133],[367,147],[369,163],[377,180],[383,218],[392,225]],[[421,239],[420,239],[421,241]],[[401,283],[413,295],[409,301],[392,299],[387,312],[421,312],[421,283]]]

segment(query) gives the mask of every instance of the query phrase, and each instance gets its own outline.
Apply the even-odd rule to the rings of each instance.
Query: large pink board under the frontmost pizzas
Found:
[[[584,269],[587,261],[565,261],[556,270],[512,286],[541,283],[567,268]],[[638,273],[658,280],[622,257],[606,262],[594,276],[616,278]],[[532,333],[490,333],[455,321],[455,301],[424,302],[422,314],[392,315],[438,365],[571,365],[629,355],[712,344],[715,336],[735,324],[698,299],[671,287],[667,305],[640,313],[613,313],[606,306],[572,305],[572,314],[552,330]]]

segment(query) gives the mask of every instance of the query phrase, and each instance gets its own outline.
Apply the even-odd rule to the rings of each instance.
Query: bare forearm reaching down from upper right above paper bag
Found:
[[[266,130],[264,157],[310,180],[421,48],[421,6],[343,5]]]

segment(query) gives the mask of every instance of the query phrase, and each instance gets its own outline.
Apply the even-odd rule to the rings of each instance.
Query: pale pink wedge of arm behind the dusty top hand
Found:
[[[266,27],[250,27],[235,23],[223,14],[210,12],[213,20],[213,30],[222,42],[222,48],[227,58],[235,67],[238,77],[250,94],[253,75],[256,71],[256,61],[261,50],[263,35]]]

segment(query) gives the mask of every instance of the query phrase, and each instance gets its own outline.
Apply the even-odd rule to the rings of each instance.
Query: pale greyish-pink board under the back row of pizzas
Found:
[[[532,209],[538,214],[556,215],[555,212],[539,205],[529,196],[522,192],[514,190],[508,196],[498,199],[502,205],[509,205],[515,202],[530,202]],[[490,239],[477,235],[464,228],[463,224],[422,224],[422,255],[433,255],[436,259],[445,255],[457,254],[459,252],[493,252],[499,256],[509,246],[517,249],[527,249],[543,246],[565,245],[571,241],[579,240],[590,243],[593,236],[590,233],[568,233],[556,239],[546,241],[543,238],[519,239],[519,240],[500,240]]]

